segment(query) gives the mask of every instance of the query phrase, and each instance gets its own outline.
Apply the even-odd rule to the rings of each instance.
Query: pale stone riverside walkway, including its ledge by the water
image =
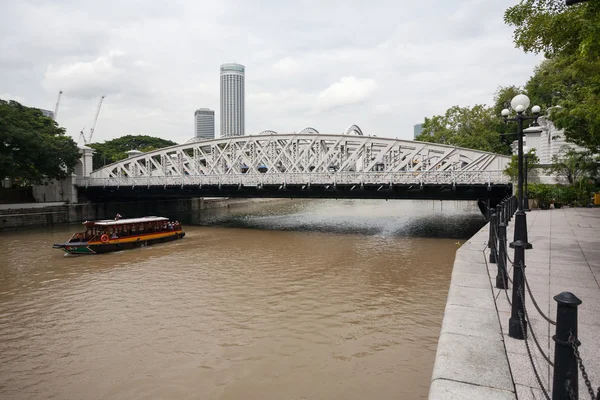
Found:
[[[579,297],[580,353],[589,378],[600,386],[600,209],[563,208],[527,213],[533,249],[525,254],[533,296],[541,310],[556,319],[554,295]],[[508,229],[512,241],[514,218]],[[497,266],[489,264],[488,225],[456,253],[446,312],[431,381],[430,399],[544,399],[525,342],[508,336],[512,285],[495,288]],[[513,251],[509,249],[509,257]],[[512,277],[512,268],[509,271]],[[554,326],[547,323],[526,294],[526,306],[542,350],[554,357]],[[535,343],[529,346],[550,394],[552,368]],[[581,374],[579,398],[589,399]],[[551,394],[550,394],[551,396]]]

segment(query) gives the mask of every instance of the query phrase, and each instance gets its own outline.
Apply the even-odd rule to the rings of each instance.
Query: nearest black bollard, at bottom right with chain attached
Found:
[[[569,343],[569,334],[577,340],[577,307],[582,303],[577,296],[570,292],[562,292],[554,296],[556,300],[556,334],[554,340],[554,376],[552,377],[552,400],[568,400],[568,387],[579,396],[579,369],[573,347]],[[567,386],[566,382],[569,382]]]

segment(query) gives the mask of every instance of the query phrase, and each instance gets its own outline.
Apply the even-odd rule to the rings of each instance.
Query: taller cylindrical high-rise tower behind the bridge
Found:
[[[244,71],[240,64],[221,65],[221,137],[245,133]]]

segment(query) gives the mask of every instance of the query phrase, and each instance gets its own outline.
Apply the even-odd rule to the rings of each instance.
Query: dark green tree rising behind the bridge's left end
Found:
[[[97,169],[127,158],[127,152],[130,150],[148,152],[176,144],[171,140],[152,136],[127,135],[104,143],[92,143],[89,146],[96,150],[93,162],[94,169]]]

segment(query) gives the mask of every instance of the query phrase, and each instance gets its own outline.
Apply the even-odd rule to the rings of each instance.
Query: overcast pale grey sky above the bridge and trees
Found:
[[[502,22],[517,0],[0,0],[0,98],[54,109],[77,137],[106,95],[93,141],[183,142],[216,111],[219,66],[246,66],[246,132],[312,126],[412,138],[452,105],[523,84]]]

